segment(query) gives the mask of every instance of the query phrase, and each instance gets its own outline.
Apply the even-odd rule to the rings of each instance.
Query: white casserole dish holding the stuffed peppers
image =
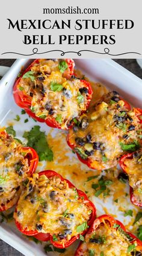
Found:
[[[14,80],[19,74],[23,66],[27,66],[32,60],[18,59],[11,66],[7,74],[4,75],[0,82],[0,125],[7,126],[7,121],[13,120],[16,114],[20,113],[20,108],[16,106],[13,100],[13,84]],[[118,65],[113,60],[106,59],[75,59],[76,67],[81,69],[86,77],[89,77],[95,82],[100,82],[110,90],[118,91],[126,100],[130,101],[134,106],[142,107],[142,81],[131,72],[127,71],[122,66]],[[22,121],[22,118],[21,118]],[[38,123],[37,123],[38,124]],[[36,124],[36,125],[37,125]],[[14,125],[14,129],[17,131],[17,137],[21,137],[24,130],[31,129],[34,126],[32,120],[24,124],[17,123]],[[39,123],[42,130],[48,131],[45,124]],[[58,131],[56,131],[58,132]],[[87,168],[87,167],[86,167]],[[99,199],[96,201],[97,213],[103,214],[102,206],[99,203]],[[111,202],[107,205],[108,211],[113,213],[113,206]],[[131,205],[132,208],[132,205]],[[123,216],[117,214],[117,218],[123,221]],[[12,223],[1,223],[0,225],[0,238],[9,245],[16,248],[22,254],[27,256],[45,255],[43,248],[40,244],[36,245],[28,238],[23,237],[14,227]],[[55,254],[49,254],[55,255]]]

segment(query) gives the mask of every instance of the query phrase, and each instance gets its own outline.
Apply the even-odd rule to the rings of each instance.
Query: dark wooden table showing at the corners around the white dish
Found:
[[[15,59],[0,59],[0,66],[11,66],[14,61]],[[115,61],[142,79],[142,69],[138,66],[135,59],[115,59]],[[7,245],[7,243],[0,240],[0,256],[22,255],[23,254],[16,251],[10,245]]]

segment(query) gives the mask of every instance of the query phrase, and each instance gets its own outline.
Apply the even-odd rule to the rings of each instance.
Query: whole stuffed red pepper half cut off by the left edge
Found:
[[[0,132],[0,211],[17,203],[25,182],[34,173],[38,155],[31,147],[23,147],[5,130]]]

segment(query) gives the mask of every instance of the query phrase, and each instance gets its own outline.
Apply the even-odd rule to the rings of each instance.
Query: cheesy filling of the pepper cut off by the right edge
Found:
[[[142,202],[142,150],[134,153],[133,158],[125,159],[126,172],[129,176],[129,185],[134,190],[137,202]]]

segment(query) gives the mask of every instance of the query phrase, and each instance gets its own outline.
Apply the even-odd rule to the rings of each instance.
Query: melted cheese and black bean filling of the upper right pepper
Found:
[[[115,98],[117,101],[112,100]],[[70,130],[69,141],[92,167],[107,169],[117,165],[123,153],[121,143],[138,141],[138,129],[140,123],[134,111],[126,110],[119,95],[110,92],[79,118],[79,127]]]

